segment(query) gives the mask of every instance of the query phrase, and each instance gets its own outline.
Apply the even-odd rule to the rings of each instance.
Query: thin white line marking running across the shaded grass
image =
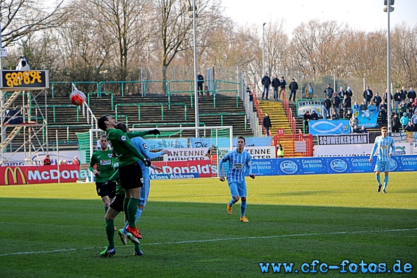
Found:
[[[188,243],[203,243],[203,242],[215,242],[215,241],[226,241],[226,240],[244,240],[244,239],[261,239],[261,238],[284,238],[284,237],[305,237],[305,236],[326,236],[326,235],[342,235],[342,234],[369,234],[369,233],[386,233],[386,232],[407,232],[407,231],[417,231],[417,228],[414,229],[392,229],[392,230],[373,230],[373,231],[356,231],[356,232],[331,232],[331,233],[309,233],[309,234],[289,234],[289,235],[276,235],[276,236],[257,236],[257,237],[233,237],[233,238],[216,238],[216,239],[203,239],[203,240],[189,240],[189,241],[173,241],[173,242],[156,242],[156,243],[145,243],[141,244],[143,246],[147,245],[169,245],[169,244],[188,244]],[[125,246],[116,246],[125,247]],[[78,250],[90,250],[97,249],[100,247],[86,247],[86,248],[72,248],[72,249],[58,249],[51,251],[31,251],[31,252],[17,252],[9,254],[0,254],[0,257],[3,256],[13,256],[13,255],[30,255],[30,254],[45,254],[45,253],[58,253],[58,252],[69,252],[69,251],[78,251]],[[103,247],[105,248],[105,247]]]

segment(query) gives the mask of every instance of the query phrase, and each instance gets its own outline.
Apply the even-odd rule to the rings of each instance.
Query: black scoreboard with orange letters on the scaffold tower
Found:
[[[0,85],[2,90],[39,90],[49,88],[47,70],[2,70]]]

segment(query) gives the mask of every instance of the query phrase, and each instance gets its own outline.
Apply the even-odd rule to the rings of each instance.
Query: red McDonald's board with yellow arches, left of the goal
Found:
[[[48,166],[10,166],[0,167],[0,185],[76,182],[80,175],[86,175],[83,170],[80,173],[79,165]]]

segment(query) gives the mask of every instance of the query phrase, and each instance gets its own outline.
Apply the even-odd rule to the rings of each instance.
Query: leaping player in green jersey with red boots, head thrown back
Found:
[[[158,130],[151,130],[149,132],[135,132],[124,133],[116,129],[116,122],[109,115],[104,115],[98,119],[98,127],[106,132],[107,140],[110,142],[114,155],[119,160],[120,182],[125,190],[125,199],[123,202],[123,209],[126,218],[129,222],[126,228],[128,233],[131,233],[135,238],[141,239],[142,236],[135,224],[136,208],[140,197],[140,188],[143,185],[142,170],[137,163],[141,160],[145,166],[151,166],[151,161],[145,158],[130,142],[129,138],[137,136],[145,136],[147,134],[159,134]],[[110,223],[106,222],[106,230]],[[113,226],[112,226],[113,228]],[[105,254],[112,255],[116,250],[107,247],[104,250]],[[103,252],[102,252],[103,253]],[[104,255],[105,255],[104,254]]]

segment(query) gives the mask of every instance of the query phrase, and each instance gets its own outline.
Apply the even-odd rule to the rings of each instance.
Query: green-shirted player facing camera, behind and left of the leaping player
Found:
[[[114,198],[116,183],[105,183],[114,173],[113,154],[108,147],[106,136],[100,138],[100,150],[93,153],[88,169],[96,176],[96,191],[104,203],[104,210],[107,212],[110,200]],[[96,169],[94,168],[96,166]]]

